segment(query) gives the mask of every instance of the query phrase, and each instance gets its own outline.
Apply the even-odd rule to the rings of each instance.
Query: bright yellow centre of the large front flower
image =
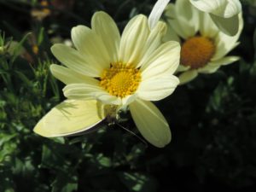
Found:
[[[110,95],[123,98],[137,90],[141,79],[137,68],[118,62],[103,71],[100,84]]]

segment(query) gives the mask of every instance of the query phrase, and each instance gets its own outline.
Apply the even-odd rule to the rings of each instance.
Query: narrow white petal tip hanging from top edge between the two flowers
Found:
[[[157,22],[160,20],[161,15],[163,14],[166,5],[170,2],[170,0],[158,0],[148,16],[148,26],[150,30],[153,30],[157,25]]]

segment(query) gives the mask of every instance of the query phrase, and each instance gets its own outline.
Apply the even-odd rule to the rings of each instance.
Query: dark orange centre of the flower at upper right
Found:
[[[212,59],[215,45],[210,38],[193,37],[187,39],[181,49],[181,64],[192,69],[204,67]]]

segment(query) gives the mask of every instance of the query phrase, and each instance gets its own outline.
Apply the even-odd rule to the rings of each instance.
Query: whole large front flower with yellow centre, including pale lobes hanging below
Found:
[[[66,66],[53,64],[50,71],[67,84],[63,92],[68,100],[46,114],[34,131],[44,137],[77,133],[128,107],[143,137],[164,147],[171,141],[171,131],[149,101],[171,95],[179,83],[173,73],[179,64],[180,45],[162,44],[165,33],[165,23],[159,21],[149,30],[147,17],[137,15],[120,37],[118,27],[104,12],[93,15],[91,29],[73,27],[75,49],[64,44],[51,48]]]

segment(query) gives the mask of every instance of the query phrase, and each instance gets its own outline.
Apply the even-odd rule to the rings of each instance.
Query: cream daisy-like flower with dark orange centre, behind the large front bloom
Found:
[[[243,21],[239,17],[239,31],[228,36],[213,25],[209,15],[195,9],[188,0],[177,0],[166,8],[168,30],[166,40],[181,44],[181,61],[177,68],[180,84],[189,82],[198,73],[214,73],[222,65],[237,61],[237,56],[226,56],[239,42]]]

